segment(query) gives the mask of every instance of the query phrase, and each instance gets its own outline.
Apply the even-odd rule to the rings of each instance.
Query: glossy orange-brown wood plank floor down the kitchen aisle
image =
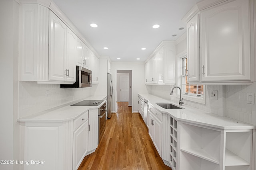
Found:
[[[156,151],[140,114],[131,113],[128,102],[117,106],[117,113],[106,120],[98,148],[78,170],[171,170]]]

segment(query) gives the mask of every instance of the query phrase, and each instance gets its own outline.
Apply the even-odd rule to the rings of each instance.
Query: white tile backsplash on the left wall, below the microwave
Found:
[[[49,96],[46,97],[46,90]],[[32,115],[90,96],[90,88],[60,88],[59,84],[19,82],[19,117]]]

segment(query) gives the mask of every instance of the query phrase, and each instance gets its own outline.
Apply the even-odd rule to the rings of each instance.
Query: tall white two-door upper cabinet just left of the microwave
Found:
[[[55,14],[49,16],[49,80],[75,82],[76,35]]]

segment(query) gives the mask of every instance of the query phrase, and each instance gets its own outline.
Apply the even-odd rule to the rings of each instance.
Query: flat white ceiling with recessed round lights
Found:
[[[201,0],[53,1],[100,56],[111,61],[144,62],[162,41],[174,41],[186,32],[181,19]],[[98,27],[90,27],[91,23]],[[160,27],[152,28],[155,24]],[[172,37],[174,34],[177,36]],[[146,50],[141,50],[143,47]]]

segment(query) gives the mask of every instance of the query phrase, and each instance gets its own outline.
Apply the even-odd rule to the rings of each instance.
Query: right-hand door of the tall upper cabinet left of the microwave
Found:
[[[67,28],[67,52],[66,52],[66,69],[68,75],[66,81],[76,81],[76,35]]]

